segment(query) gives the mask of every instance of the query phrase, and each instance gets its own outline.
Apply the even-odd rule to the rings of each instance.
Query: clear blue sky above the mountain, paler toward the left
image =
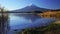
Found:
[[[60,9],[60,0],[0,0],[0,4],[8,10],[21,9],[31,3],[41,8]]]

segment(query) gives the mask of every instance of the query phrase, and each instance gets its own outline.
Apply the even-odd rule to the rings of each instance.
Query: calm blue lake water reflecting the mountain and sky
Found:
[[[48,25],[56,19],[53,18],[41,18],[32,14],[10,14],[9,16],[11,29],[24,29],[31,27],[40,27]]]

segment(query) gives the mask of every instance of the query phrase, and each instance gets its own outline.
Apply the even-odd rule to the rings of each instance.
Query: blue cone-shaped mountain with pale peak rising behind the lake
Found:
[[[45,8],[40,8],[36,5],[31,5],[31,6],[26,6],[22,9],[18,9],[18,10],[13,10],[11,12],[32,12],[32,11],[47,11],[49,9],[45,9]]]

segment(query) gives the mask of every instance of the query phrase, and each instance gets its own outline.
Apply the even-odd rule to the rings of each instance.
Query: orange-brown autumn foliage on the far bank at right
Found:
[[[60,11],[47,11],[38,14],[38,16],[41,16],[43,18],[60,18]]]

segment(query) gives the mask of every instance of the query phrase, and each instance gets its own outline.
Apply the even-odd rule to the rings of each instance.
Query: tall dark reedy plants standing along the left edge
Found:
[[[9,30],[8,13],[4,13],[4,7],[0,5],[0,34],[7,34]],[[7,30],[6,30],[7,29]]]

